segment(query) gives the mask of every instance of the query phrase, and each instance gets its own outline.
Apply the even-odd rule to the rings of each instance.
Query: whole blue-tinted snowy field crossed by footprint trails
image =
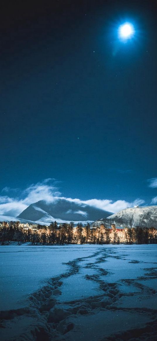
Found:
[[[0,246],[1,341],[157,340],[157,245]]]

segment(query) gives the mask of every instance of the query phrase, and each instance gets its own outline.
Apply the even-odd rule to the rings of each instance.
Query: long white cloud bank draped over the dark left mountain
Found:
[[[134,202],[127,203],[125,200],[117,200],[113,202],[110,199],[89,199],[80,200],[78,198],[66,198],[62,197],[57,187],[58,182],[55,179],[45,179],[42,182],[31,184],[24,191],[18,192],[18,196],[2,195],[0,196],[0,215],[17,217],[23,210],[25,210],[30,204],[33,204],[40,200],[46,202],[54,202],[59,198],[66,199],[69,202],[78,203],[81,207],[90,205],[98,209],[109,212],[118,212],[128,207],[144,204],[144,200],[136,199]],[[2,192],[10,192],[9,188],[4,188]],[[10,193],[13,193],[12,191]],[[14,194],[17,195],[16,191]],[[154,198],[155,200],[155,198]]]

